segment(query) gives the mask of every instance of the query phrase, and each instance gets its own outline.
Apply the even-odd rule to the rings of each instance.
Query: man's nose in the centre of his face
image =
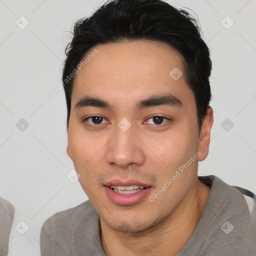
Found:
[[[121,127],[121,128],[120,128]],[[142,165],[145,161],[144,146],[134,125],[125,130],[116,125],[115,135],[108,143],[106,162],[120,168],[130,165]]]

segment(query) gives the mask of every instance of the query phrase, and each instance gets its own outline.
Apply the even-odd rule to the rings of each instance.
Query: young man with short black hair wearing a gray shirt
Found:
[[[255,195],[197,176],[210,71],[196,21],[163,1],[109,1],[76,22],[67,154],[89,200],[45,221],[41,255],[255,255]]]

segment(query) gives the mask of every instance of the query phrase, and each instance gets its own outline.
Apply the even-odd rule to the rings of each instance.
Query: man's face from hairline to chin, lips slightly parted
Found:
[[[67,153],[100,219],[142,231],[180,205],[207,155],[194,95],[182,56],[163,42],[108,43],[88,54],[74,77]]]

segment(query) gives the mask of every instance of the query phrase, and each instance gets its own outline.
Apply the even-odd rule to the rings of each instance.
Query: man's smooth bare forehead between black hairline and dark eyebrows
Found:
[[[91,54],[95,49],[97,53]],[[172,70],[184,74],[184,67],[182,55],[167,43],[140,40],[98,44],[82,60],[85,58],[86,64],[77,69],[74,77],[72,108],[86,95],[107,98],[112,103],[117,99],[130,103],[132,99],[170,92],[193,100],[184,75],[177,80],[170,75]]]

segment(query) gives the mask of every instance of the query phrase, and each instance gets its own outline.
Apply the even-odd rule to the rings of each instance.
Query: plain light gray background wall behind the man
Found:
[[[46,94],[60,84],[73,22],[102,2],[0,0],[0,195],[16,209],[9,255],[39,255],[43,221],[87,199],[78,181],[66,177],[73,164],[65,151],[64,92],[51,100]],[[197,14],[211,50],[214,123],[198,175],[214,174],[256,192],[256,1],[168,2]],[[29,21],[24,29],[15,24],[21,15]],[[226,15],[234,21],[229,29],[220,23]],[[29,124],[23,131],[16,127],[21,118]],[[234,124],[228,131],[221,126],[226,118]],[[20,221],[29,226],[25,234],[15,229],[25,229]]]

